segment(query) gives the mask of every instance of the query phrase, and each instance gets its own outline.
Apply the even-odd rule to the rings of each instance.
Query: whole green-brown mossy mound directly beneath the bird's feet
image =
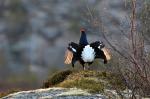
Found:
[[[100,71],[62,71],[55,73],[45,83],[44,87],[81,88],[92,93],[103,92],[104,89],[124,90],[124,80],[119,74]]]

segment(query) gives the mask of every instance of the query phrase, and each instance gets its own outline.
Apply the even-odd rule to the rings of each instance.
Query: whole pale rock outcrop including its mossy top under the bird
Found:
[[[49,77],[43,89],[20,91],[2,99],[131,99],[132,95],[120,75],[66,70]],[[139,95],[135,97],[142,99]]]

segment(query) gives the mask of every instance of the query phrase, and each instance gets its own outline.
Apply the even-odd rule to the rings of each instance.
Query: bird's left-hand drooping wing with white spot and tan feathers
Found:
[[[65,64],[70,64],[72,63],[72,61],[74,61],[73,63],[75,63],[76,61],[75,56],[77,54],[78,47],[79,45],[74,42],[69,43],[68,49],[66,50],[65,53],[65,61],[64,61]]]

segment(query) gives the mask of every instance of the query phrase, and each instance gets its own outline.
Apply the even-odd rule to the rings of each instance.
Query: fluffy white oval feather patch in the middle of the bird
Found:
[[[81,53],[81,58],[84,62],[92,62],[95,58],[95,51],[90,45],[86,45]]]

